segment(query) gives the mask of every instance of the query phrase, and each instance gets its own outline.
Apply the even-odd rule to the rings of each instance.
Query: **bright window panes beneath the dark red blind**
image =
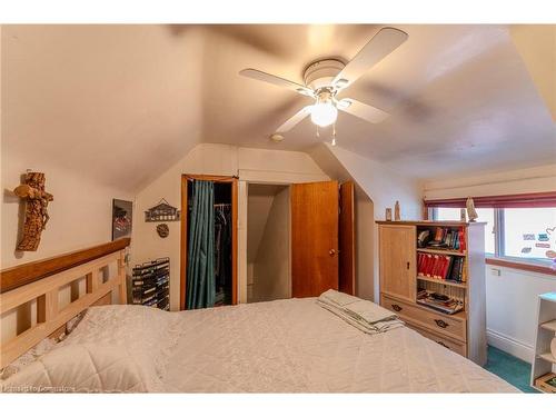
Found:
[[[435,220],[459,220],[459,208],[435,207]],[[485,252],[496,257],[554,261],[556,208],[477,208],[477,221],[486,221]]]

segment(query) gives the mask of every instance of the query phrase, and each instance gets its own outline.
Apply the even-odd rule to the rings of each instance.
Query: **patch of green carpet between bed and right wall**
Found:
[[[488,347],[485,369],[499,376],[524,393],[537,393],[529,386],[530,365],[493,346]]]

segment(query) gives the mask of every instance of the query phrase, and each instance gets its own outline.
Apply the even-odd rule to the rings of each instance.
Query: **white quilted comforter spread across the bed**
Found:
[[[314,298],[181,312],[93,307],[60,345],[87,344],[90,350],[92,342],[125,347],[135,364],[149,369],[133,373],[133,378],[150,379],[140,385],[146,390],[517,391],[411,329],[367,335],[319,307]],[[129,387],[135,386],[133,378]],[[117,390],[113,381],[106,384],[107,389]]]

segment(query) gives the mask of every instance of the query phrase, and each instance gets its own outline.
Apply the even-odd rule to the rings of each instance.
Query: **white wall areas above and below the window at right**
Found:
[[[424,183],[427,199],[556,190],[556,165]],[[499,276],[493,274],[499,271]],[[486,265],[488,342],[530,363],[537,296],[556,291],[556,277]]]

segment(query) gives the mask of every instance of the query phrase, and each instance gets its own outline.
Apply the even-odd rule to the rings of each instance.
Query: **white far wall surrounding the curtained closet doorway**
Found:
[[[156,232],[156,224],[145,222],[143,211],[155,206],[162,197],[170,205],[180,207],[182,173],[239,176],[238,284],[240,302],[247,301],[246,181],[291,183],[329,179],[304,152],[201,143],[143,188],[135,201],[132,262],[139,264],[157,257],[170,257],[170,308],[172,310],[179,309],[180,224],[179,221],[168,222],[170,235],[161,239]]]

